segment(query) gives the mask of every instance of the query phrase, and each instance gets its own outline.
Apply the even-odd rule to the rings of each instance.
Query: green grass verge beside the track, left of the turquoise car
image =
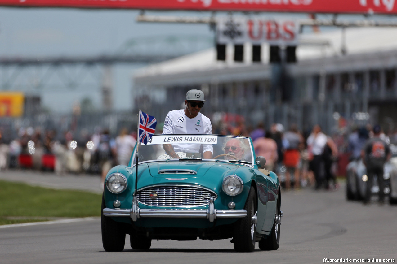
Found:
[[[100,216],[102,195],[0,180],[0,225]]]

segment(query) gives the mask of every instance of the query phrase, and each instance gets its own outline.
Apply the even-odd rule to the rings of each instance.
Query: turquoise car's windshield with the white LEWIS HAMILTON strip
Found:
[[[203,152],[211,151],[212,160],[237,162],[252,165],[253,153],[249,138],[222,135],[154,135],[145,145],[138,147],[139,163],[145,161],[166,161],[173,159],[166,153],[164,147],[172,146],[179,160],[204,159]],[[135,147],[133,165],[135,164]]]

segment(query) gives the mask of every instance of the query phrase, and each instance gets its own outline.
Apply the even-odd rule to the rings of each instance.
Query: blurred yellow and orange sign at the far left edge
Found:
[[[20,117],[23,103],[22,92],[0,92],[0,117]]]

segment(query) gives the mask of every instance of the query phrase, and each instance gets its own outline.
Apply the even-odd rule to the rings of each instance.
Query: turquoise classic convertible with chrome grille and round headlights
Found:
[[[172,146],[172,158],[163,146]],[[212,150],[204,159],[202,149]],[[173,155],[174,156],[174,155]],[[138,165],[137,158],[138,157]],[[102,197],[102,243],[122,251],[152,239],[230,239],[238,252],[277,250],[281,193],[277,175],[262,167],[251,138],[154,135],[135,146],[129,165],[112,168]]]

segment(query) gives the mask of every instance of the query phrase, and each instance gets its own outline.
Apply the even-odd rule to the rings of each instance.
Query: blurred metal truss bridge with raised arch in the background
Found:
[[[149,64],[214,46],[210,36],[149,36],[127,40],[113,55],[0,58],[0,90],[100,89],[116,64]]]

